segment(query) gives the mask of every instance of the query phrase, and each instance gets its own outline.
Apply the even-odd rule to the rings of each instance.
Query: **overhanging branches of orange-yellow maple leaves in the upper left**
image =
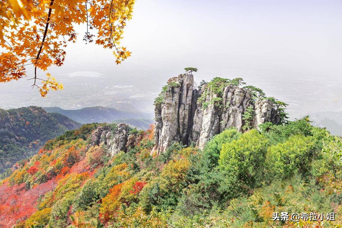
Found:
[[[37,69],[63,65],[68,42],[75,42],[74,24],[87,26],[86,41],[114,49],[116,63],[131,52],[120,46],[135,0],[2,0],[0,2],[0,82],[27,76],[34,69],[34,84],[41,96],[63,88],[53,77],[40,79]],[[94,33],[94,34],[93,34]],[[36,81],[42,81],[38,86]]]

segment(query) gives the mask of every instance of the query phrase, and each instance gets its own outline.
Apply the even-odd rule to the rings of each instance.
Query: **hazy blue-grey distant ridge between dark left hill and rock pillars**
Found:
[[[80,123],[113,123],[122,119],[152,119],[148,113],[137,111],[120,111],[102,106],[82,109],[62,109],[59,107],[44,107],[47,112],[57,112]],[[128,123],[129,124],[129,123]]]

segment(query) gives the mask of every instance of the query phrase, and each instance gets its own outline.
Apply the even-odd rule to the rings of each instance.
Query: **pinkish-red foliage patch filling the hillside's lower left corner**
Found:
[[[26,191],[25,183],[0,186],[0,227],[10,228],[37,211],[37,199],[56,187],[54,179]]]

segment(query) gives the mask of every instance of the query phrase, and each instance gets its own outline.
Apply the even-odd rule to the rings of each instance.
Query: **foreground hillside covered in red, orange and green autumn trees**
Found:
[[[135,143],[108,157],[103,143],[90,146],[96,127],[50,140],[2,180],[1,227],[341,227],[342,141],[308,117],[226,129],[202,150],[173,143],[159,156],[151,129],[130,131]]]

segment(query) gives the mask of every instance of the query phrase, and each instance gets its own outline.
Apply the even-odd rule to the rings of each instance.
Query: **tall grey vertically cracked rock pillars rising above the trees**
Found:
[[[248,106],[254,107],[255,128],[265,122],[280,122],[272,100],[258,100],[254,104],[251,94],[238,86],[225,86],[219,97],[207,84],[201,91],[194,89],[193,75],[179,75],[176,81],[178,84],[170,84],[162,94],[164,102],[156,104],[155,147],[151,154],[165,151],[173,142],[195,143],[203,148],[210,137],[229,127],[242,131]],[[199,103],[197,99],[203,91],[205,97]]]

